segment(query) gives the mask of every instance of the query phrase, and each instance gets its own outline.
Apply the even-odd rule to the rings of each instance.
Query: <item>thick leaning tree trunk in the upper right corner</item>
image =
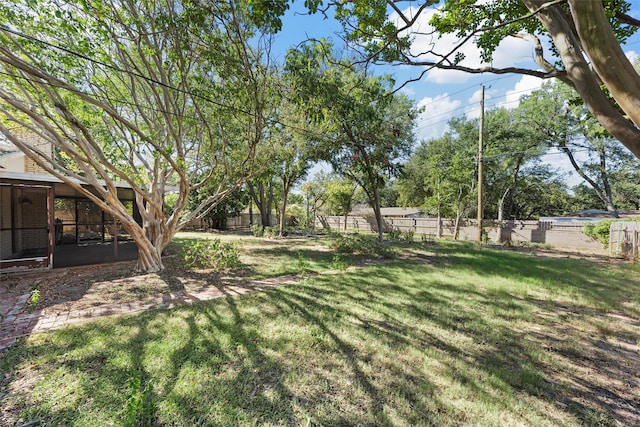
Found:
[[[538,10],[546,2],[547,0],[523,0],[523,3],[532,12]],[[609,131],[609,133],[611,133],[611,135],[617,138],[636,157],[640,158],[640,129],[634,126],[631,121],[627,120],[615,108],[615,106],[612,105],[609,99],[607,99],[600,89],[600,82],[597,75],[591,70],[589,63],[586,61],[582,51],[580,50],[580,46],[585,47],[587,52],[591,52],[589,55],[593,54],[596,58],[595,60],[598,62],[603,61],[603,55],[608,57],[606,55],[607,52],[610,54],[610,57],[608,57],[609,59],[607,59],[604,64],[600,64],[600,68],[613,68],[612,63],[615,64],[619,62],[620,64],[623,64],[625,61],[626,63],[629,61],[624,57],[624,53],[622,53],[622,51],[617,53],[616,48],[620,49],[617,41],[615,41],[615,43],[607,41],[609,38],[606,37],[604,33],[610,33],[611,26],[606,18],[600,15],[594,18],[589,18],[587,16],[588,13],[586,12],[599,13],[597,10],[592,11],[591,7],[599,5],[601,8],[602,5],[600,1],[571,0],[570,4],[574,19],[576,19],[578,21],[577,23],[580,24],[578,25],[580,40],[578,40],[574,32],[575,27],[572,25],[573,21],[569,22],[570,20],[567,19],[567,15],[561,9],[561,6],[547,7],[539,11],[536,14],[536,17],[546,27],[547,31],[549,31],[549,34],[553,39],[553,43],[562,58],[562,62],[564,63],[568,79],[585,102],[585,105],[591,114],[593,114],[593,116],[600,122],[600,124],[602,124],[602,126],[604,126],[605,129]],[[597,31],[592,28],[592,21],[597,23]],[[587,24],[589,22],[591,22],[591,24]],[[588,30],[586,28],[588,28]],[[593,31],[592,34],[593,37],[595,37],[595,40],[586,34],[590,31]],[[594,46],[598,45],[602,49],[594,50]],[[622,58],[620,56],[622,56]],[[594,58],[592,58],[592,60],[594,60]],[[617,84],[613,83],[615,78],[611,76],[612,82],[610,82],[610,84],[612,84],[612,87],[609,89],[612,93],[615,89],[618,92],[617,96],[621,99],[624,98],[622,94],[624,90],[619,88],[620,85],[627,89],[635,86],[633,92],[630,90],[627,91],[628,94],[631,95],[633,95],[634,92],[640,91],[640,82],[637,82],[638,74],[635,71],[627,73],[624,71],[626,69],[627,67],[625,66],[621,71],[621,74],[615,77],[621,79],[616,82]],[[631,69],[633,70],[633,68]],[[598,73],[600,72],[607,74],[604,70],[599,70]],[[617,75],[617,72],[614,76],[615,75]],[[631,98],[633,99],[633,96],[631,96]],[[635,100],[638,100],[637,96],[635,97]],[[636,106],[633,107],[633,105]],[[627,111],[628,109],[634,110],[631,111],[634,112],[634,116],[640,114],[640,108],[637,107],[637,104],[633,104],[631,101],[626,101],[624,104],[621,104],[621,107],[625,109],[627,114],[630,114],[630,111]],[[638,122],[640,122],[640,118],[638,118]]]

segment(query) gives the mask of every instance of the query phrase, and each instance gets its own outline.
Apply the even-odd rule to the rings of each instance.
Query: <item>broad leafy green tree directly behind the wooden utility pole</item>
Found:
[[[485,117],[485,212],[502,220],[566,211],[564,184],[540,162],[546,146],[518,111],[496,109]],[[449,132],[416,149],[398,179],[403,205],[452,216],[457,224],[473,213],[478,127],[476,119],[451,120]]]

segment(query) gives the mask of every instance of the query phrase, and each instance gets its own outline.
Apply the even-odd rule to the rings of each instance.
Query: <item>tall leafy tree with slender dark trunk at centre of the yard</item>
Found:
[[[404,95],[390,92],[388,76],[374,77],[333,58],[326,41],[305,44],[287,56],[298,105],[329,138],[319,152],[340,175],[360,185],[373,208],[382,240],[379,189],[398,172],[398,159],[413,145],[417,110]]]

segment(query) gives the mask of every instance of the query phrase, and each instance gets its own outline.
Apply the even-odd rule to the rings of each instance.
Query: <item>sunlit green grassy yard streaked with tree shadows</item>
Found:
[[[637,266],[446,242],[377,262],[323,240],[240,245],[248,277],[305,274],[34,334],[0,353],[0,411],[78,426],[640,423]],[[344,263],[361,265],[327,272]]]

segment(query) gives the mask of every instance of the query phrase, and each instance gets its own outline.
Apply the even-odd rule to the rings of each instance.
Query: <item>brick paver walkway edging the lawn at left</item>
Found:
[[[5,290],[0,301],[0,350],[12,346],[17,339],[37,332],[60,329],[68,325],[79,325],[95,319],[122,314],[139,313],[155,308],[171,308],[196,301],[206,301],[230,295],[267,289],[277,285],[296,283],[296,275],[287,275],[266,280],[256,280],[242,285],[210,287],[199,291],[178,291],[160,295],[153,302],[130,302],[102,304],[89,309],[61,311],[42,314],[41,310],[29,311],[31,293],[29,289]]]

